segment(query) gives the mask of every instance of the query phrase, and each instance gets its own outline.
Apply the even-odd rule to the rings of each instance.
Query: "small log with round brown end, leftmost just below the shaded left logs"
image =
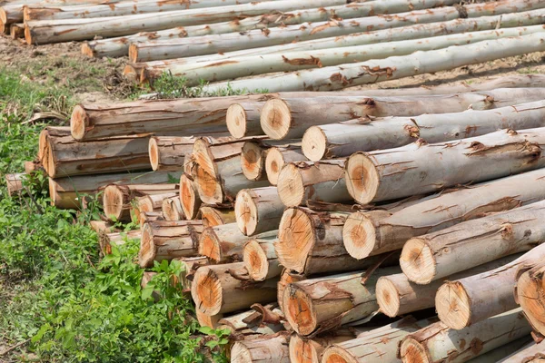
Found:
[[[103,207],[104,214],[111,221],[131,221],[131,211],[133,211],[133,201],[136,198],[147,195],[160,195],[159,198],[178,197],[178,184],[111,184],[104,188]],[[163,201],[161,199],[161,201]],[[148,202],[149,203],[149,202]],[[138,212],[154,211],[156,208],[142,208],[140,205]],[[136,220],[138,217],[135,216]]]

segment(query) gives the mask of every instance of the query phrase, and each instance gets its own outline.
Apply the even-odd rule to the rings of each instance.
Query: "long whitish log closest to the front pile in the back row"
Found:
[[[477,44],[455,45],[440,50],[393,56],[383,60],[233,81],[229,84],[235,90],[265,88],[269,92],[333,91],[543,51],[545,51],[545,35],[538,33],[483,41]],[[204,90],[214,92],[226,86],[226,83],[214,83],[205,87]]]

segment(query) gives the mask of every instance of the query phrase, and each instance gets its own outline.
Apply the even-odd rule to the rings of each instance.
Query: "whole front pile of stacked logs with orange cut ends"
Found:
[[[540,361],[545,76],[388,92],[80,104],[26,172],[178,260],[233,362]]]

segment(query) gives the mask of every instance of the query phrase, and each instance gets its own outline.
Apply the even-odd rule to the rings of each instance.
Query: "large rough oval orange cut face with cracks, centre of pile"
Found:
[[[311,218],[298,208],[282,214],[274,249],[282,266],[303,273],[316,235]]]

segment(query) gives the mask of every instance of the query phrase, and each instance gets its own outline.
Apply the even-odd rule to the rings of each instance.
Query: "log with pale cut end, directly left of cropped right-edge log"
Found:
[[[545,245],[540,245],[498,269],[445,282],[435,296],[439,319],[451,329],[464,329],[517,308],[513,297],[517,271],[533,267],[544,256]]]

